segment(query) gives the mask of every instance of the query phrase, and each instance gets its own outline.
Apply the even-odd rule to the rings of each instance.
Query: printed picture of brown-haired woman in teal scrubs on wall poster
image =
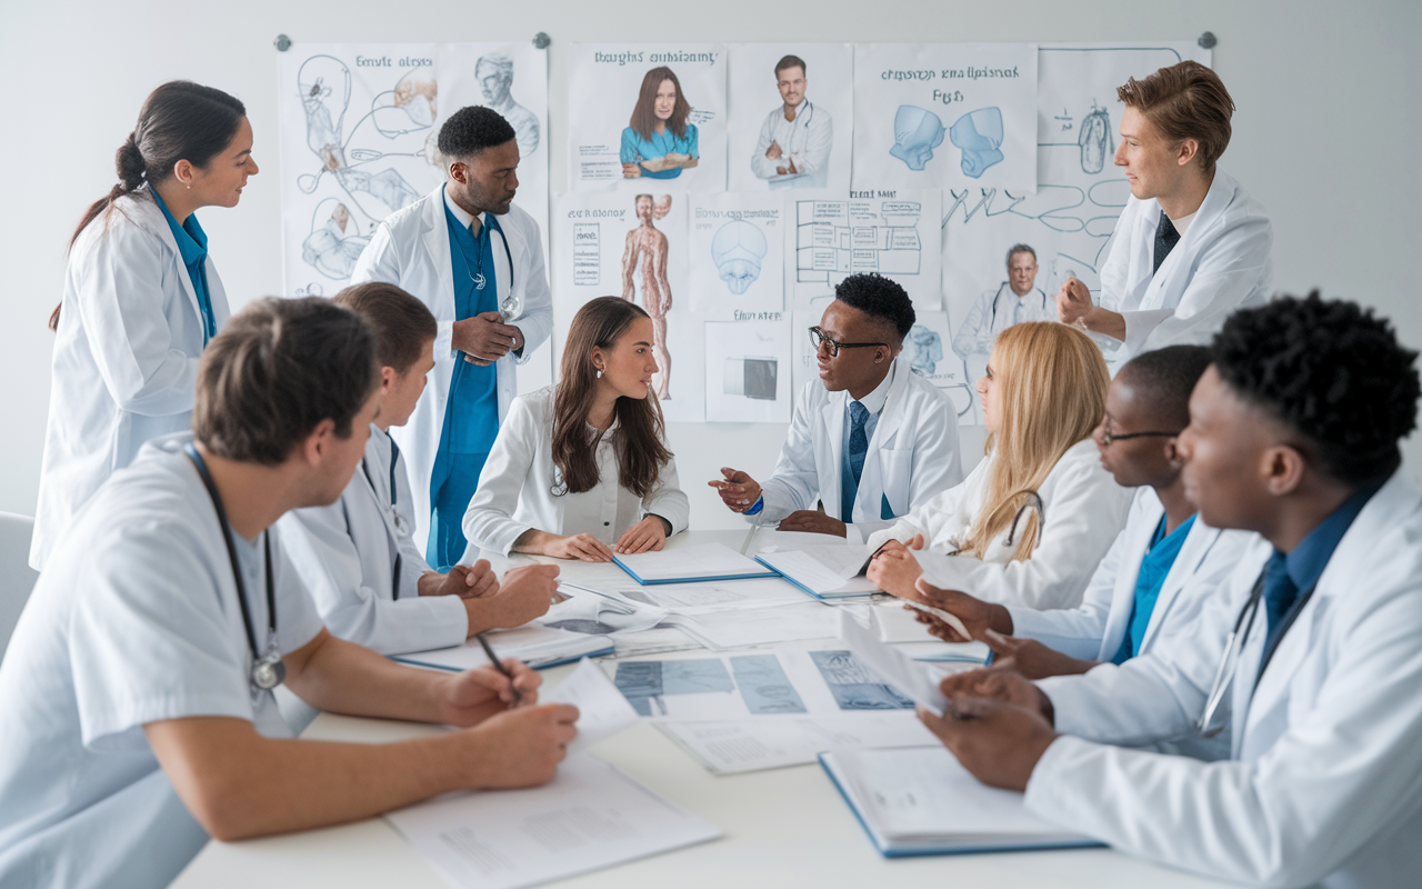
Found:
[[[697,125],[687,122],[691,104],[681,94],[681,81],[663,65],[647,71],[637,92],[637,107],[623,129],[623,176],[675,179],[701,159]]]

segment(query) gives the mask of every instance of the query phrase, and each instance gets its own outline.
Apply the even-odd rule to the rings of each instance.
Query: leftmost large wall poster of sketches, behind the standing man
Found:
[[[547,230],[542,50],[311,44],[282,55],[279,84],[289,296],[344,287],[375,226],[444,181],[439,125],[464,105],[489,105],[513,124],[523,155],[516,201]]]

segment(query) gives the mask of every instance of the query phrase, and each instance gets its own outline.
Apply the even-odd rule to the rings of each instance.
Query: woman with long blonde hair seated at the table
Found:
[[[985,602],[1081,605],[1133,494],[1101,467],[1091,440],[1108,383],[1101,350],[1065,324],[998,334],[977,384],[987,457],[961,485],[869,538],[879,549],[869,577],[906,599],[921,576]]]

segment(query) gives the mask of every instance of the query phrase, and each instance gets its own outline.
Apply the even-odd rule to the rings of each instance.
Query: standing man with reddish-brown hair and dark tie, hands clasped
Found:
[[[1182,61],[1116,95],[1126,108],[1115,162],[1130,198],[1101,269],[1101,304],[1075,277],[1057,294],[1058,317],[1094,334],[1112,373],[1143,351],[1209,343],[1274,286],[1273,225],[1216,165],[1234,115],[1219,75]]]

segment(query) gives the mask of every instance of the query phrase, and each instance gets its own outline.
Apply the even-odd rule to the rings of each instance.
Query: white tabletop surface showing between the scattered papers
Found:
[[[687,532],[670,545],[721,542],[741,549],[742,531]],[[798,647],[798,646],[796,646]],[[688,653],[694,654],[694,653]],[[660,657],[660,656],[658,656]],[[673,656],[665,656],[673,657]],[[572,667],[543,673],[555,686]],[[303,737],[378,744],[441,728],[321,714]],[[593,751],[685,809],[720,826],[720,841],[553,883],[569,888],[741,889],[751,886],[1017,886],[1197,889],[1220,886],[1108,849],[884,859],[819,765],[714,777],[650,724]],[[383,819],[286,836],[212,841],[176,888],[448,889]]]

